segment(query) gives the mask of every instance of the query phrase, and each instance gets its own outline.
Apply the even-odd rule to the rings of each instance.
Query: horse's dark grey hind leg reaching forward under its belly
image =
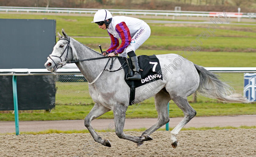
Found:
[[[144,131],[141,134],[141,136],[143,136],[145,134],[146,135],[152,134],[157,129],[161,128],[163,125],[168,123],[170,120],[169,114],[168,114],[168,109],[167,109],[168,102],[171,100],[169,93],[166,91],[165,88],[163,88],[160,92],[158,92],[156,95],[154,95],[154,98],[155,98],[155,108],[158,112],[158,120],[154,125],[152,125],[146,131]],[[140,143],[138,145],[141,145],[142,143]]]

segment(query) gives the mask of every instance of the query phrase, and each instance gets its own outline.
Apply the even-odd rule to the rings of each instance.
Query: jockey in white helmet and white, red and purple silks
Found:
[[[151,30],[148,24],[138,18],[126,16],[114,16],[108,10],[101,9],[95,13],[93,22],[103,30],[107,29],[111,38],[110,47],[102,52],[103,55],[121,57],[129,56],[134,75],[127,78],[131,80],[141,80],[140,67],[135,50],[140,47],[150,36]],[[122,43],[119,46],[119,38]],[[105,54],[106,53],[106,54]]]

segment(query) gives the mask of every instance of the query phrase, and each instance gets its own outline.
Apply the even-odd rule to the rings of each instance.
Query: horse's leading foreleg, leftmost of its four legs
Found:
[[[91,126],[91,121],[104,113],[110,111],[110,109],[95,103],[89,114],[84,119],[84,126],[89,130],[91,136],[93,137],[94,141],[101,143],[102,145],[111,147],[110,142],[106,139],[102,139],[97,132]]]

